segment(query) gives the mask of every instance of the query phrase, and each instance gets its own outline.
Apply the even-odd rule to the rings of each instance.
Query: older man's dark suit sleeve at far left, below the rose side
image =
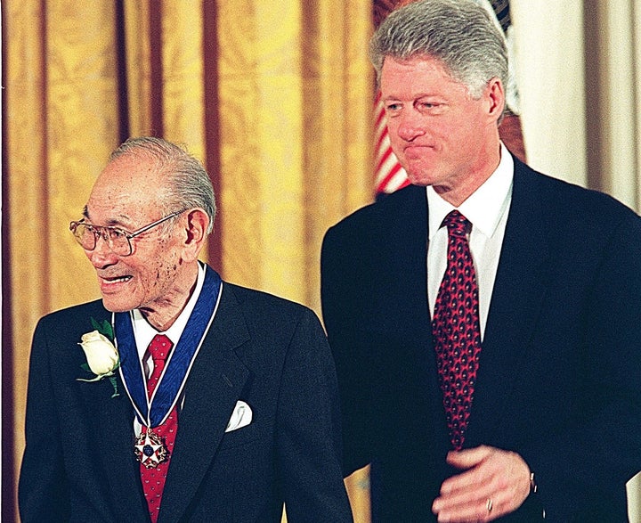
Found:
[[[45,325],[38,323],[29,364],[26,448],[20,469],[23,523],[69,520],[69,493]]]

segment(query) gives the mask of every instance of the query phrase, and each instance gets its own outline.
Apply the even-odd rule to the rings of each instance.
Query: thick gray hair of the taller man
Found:
[[[478,0],[419,0],[390,13],[369,42],[379,81],[386,56],[441,61],[475,99],[491,78],[507,86],[505,36]]]

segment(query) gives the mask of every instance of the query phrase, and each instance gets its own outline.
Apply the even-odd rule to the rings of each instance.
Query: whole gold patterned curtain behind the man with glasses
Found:
[[[225,279],[320,313],[322,235],[372,199],[371,2],[7,0],[2,10],[11,521],[31,335],[40,316],[99,297],[67,225],[128,135],[164,135],[206,162],[221,214],[205,258]]]

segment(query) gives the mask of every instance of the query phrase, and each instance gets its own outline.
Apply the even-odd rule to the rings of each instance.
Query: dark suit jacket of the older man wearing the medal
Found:
[[[147,521],[134,410],[118,378],[85,383],[81,335],[101,301],[47,315],[29,371],[20,514],[32,521]],[[158,521],[351,521],[329,346],[309,309],[223,283],[197,356]],[[225,433],[238,400],[247,427]]]

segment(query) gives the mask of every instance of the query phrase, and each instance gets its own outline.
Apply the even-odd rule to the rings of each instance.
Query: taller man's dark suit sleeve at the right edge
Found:
[[[595,506],[605,493],[625,506],[624,483],[641,470],[641,220],[630,213],[601,247],[580,325],[585,357],[576,362],[584,414],[520,453],[539,478],[537,495],[555,521]],[[612,517],[582,515],[588,516]]]

